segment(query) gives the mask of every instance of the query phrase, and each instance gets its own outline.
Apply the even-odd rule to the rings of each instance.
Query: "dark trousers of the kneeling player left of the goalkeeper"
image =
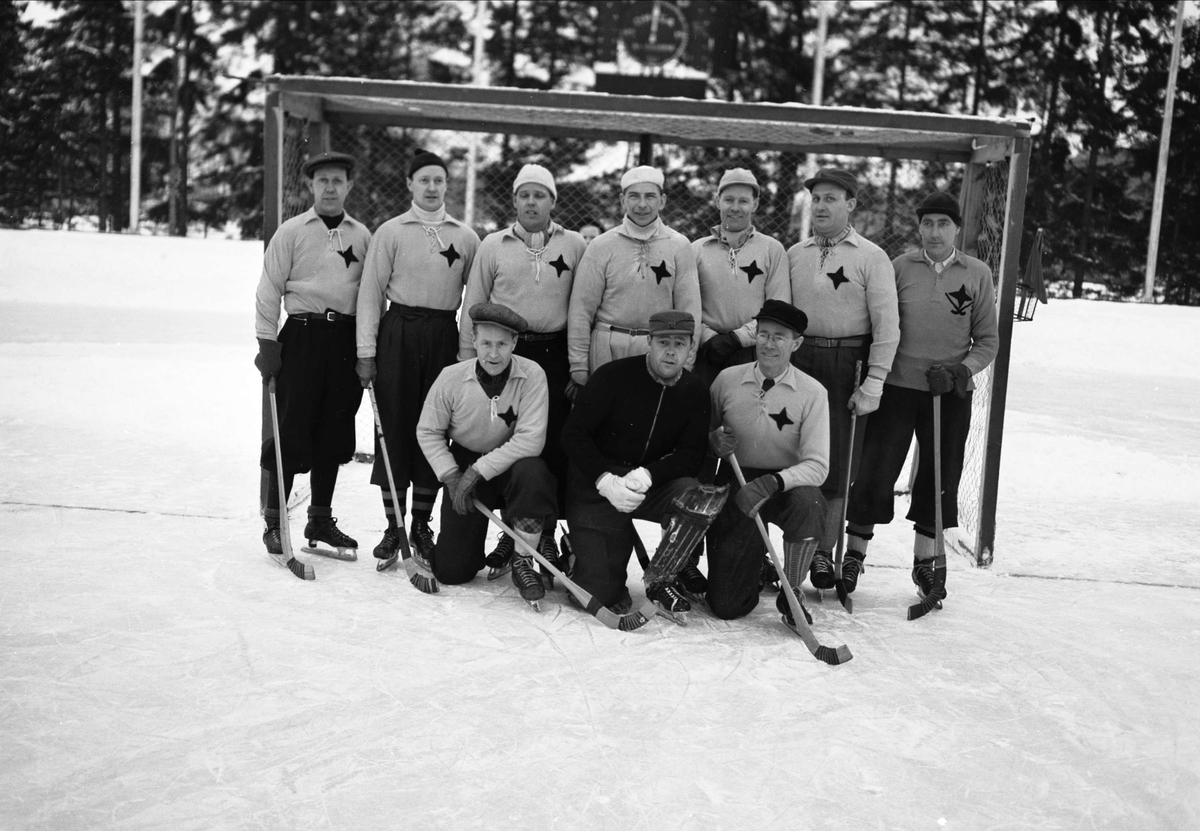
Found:
[[[479,453],[456,444],[450,453],[466,470]],[[554,500],[554,477],[546,462],[538,458],[518,459],[499,476],[480,479],[475,486],[475,498],[492,510],[503,506],[504,519],[536,519],[551,522],[558,515]],[[484,568],[484,544],[487,540],[488,520],[472,507],[466,516],[455,513],[450,500],[442,498],[442,521],[438,540],[433,546],[433,576],[448,585],[468,582]]]

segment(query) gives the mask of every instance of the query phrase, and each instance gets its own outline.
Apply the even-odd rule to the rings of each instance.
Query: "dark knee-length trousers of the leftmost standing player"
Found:
[[[354,372],[354,321],[299,321],[280,331],[283,366],[275,381],[283,474],[354,458],[354,416],[362,384]],[[275,476],[275,437],[263,441],[259,465]],[[278,506],[269,506],[277,508]]]

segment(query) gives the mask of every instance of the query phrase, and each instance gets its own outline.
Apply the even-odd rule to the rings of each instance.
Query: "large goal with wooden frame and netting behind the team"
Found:
[[[407,165],[418,149],[446,160],[446,208],[463,217],[473,143],[478,168],[470,225],[480,237],[512,222],[511,183],[527,162],[554,173],[554,219],[575,229],[584,222],[616,225],[620,173],[652,160],[666,174],[662,219],[689,239],[718,222],[714,192],[721,172],[748,167],[762,185],[755,226],[791,246],[799,239],[804,210],[803,171],[816,156],[822,166],[845,167],[858,177],[852,222],[892,258],[919,245],[914,211],[929,191],[958,193],[964,216],[959,246],[989,265],[996,285],[1000,349],[976,377],[960,527],[948,539],[976,564],[991,564],[1028,124],[358,78],[271,76],[266,92],[264,243],[281,222],[310,207],[301,165],[325,149],[355,156],[346,209],[372,229],[408,209]]]

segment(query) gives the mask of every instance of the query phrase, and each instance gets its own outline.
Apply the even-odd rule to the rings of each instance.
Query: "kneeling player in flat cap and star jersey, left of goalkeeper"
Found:
[[[472,500],[494,508],[503,498],[508,525],[534,548],[544,524],[558,514],[554,477],[539,458],[546,442],[546,373],[514,354],[517,335],[529,324],[494,303],[468,311],[475,357],[442,370],[416,425],[416,441],[446,489],[433,576],[451,585],[472,580],[485,566],[487,519]],[[522,549],[512,560],[512,584],[539,608],[546,590]]]

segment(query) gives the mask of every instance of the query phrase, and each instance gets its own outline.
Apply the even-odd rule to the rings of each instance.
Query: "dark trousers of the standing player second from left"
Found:
[[[391,304],[379,322],[376,341],[376,400],[388,440],[396,488],[438,488],[438,478],[416,443],[416,423],[425,396],[443,369],[458,354],[458,327],[452,311]],[[388,488],[379,436],[371,484]]]

